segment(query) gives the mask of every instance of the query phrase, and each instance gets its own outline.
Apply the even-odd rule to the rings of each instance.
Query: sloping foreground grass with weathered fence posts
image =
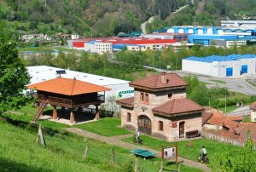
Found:
[[[36,144],[37,126],[27,123],[32,106],[26,106],[19,113],[4,113],[0,116],[0,169],[1,171],[132,171],[135,157],[130,150],[87,140],[89,152],[82,160],[84,138],[61,130],[60,123],[42,123],[46,146]],[[108,123],[109,118],[102,119]],[[113,120],[114,125],[119,120]],[[98,121],[101,122],[101,121]],[[96,122],[96,123],[98,123]],[[101,123],[99,123],[101,124]],[[100,126],[100,125],[99,125]],[[115,129],[109,128],[109,129]],[[50,130],[50,132],[49,132]],[[98,129],[101,130],[101,129]],[[111,163],[111,148],[115,150],[115,163]],[[160,159],[139,158],[140,171],[158,171]],[[164,163],[164,169],[177,170],[177,165]],[[181,165],[181,171],[201,171]]]

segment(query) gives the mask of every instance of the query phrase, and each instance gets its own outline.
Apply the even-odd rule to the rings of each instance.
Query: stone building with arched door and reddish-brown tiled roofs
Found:
[[[134,97],[118,100],[121,125],[170,141],[200,135],[204,108],[186,98],[187,85],[165,72],[131,82]]]

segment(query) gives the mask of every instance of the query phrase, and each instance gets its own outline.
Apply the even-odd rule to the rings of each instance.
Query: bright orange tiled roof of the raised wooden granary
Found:
[[[48,81],[28,85],[27,88],[60,95],[82,95],[110,90],[93,83],[85,83],[75,78],[69,79],[64,77],[56,77]]]

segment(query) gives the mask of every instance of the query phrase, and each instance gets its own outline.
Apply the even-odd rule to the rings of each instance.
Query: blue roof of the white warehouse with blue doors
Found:
[[[230,54],[227,56],[211,55],[207,57],[188,57],[184,60],[194,60],[206,63],[212,63],[213,61],[231,61],[231,60],[241,60],[241,59],[251,59],[256,58],[256,54]]]

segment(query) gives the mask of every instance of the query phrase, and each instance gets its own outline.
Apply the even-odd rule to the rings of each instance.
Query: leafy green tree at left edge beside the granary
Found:
[[[24,106],[29,97],[23,94],[30,77],[19,58],[16,44],[0,35],[0,113]]]

